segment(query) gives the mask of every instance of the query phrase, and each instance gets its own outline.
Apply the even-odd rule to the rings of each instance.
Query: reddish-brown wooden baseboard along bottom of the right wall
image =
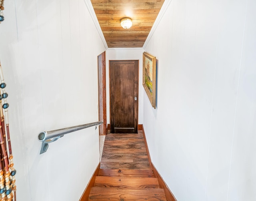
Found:
[[[150,167],[151,167],[153,173],[155,174],[156,178],[158,179],[159,187],[161,189],[164,189],[164,193],[165,193],[167,201],[177,201],[176,198],[174,197],[174,195],[172,194],[172,191],[169,189],[168,185],[165,183],[164,179],[161,177],[161,175],[159,174],[156,167],[154,166],[154,164],[151,161],[151,157],[150,157],[149,150],[148,150],[148,143],[147,143],[147,139],[146,139],[143,124],[142,124],[142,132],[143,132],[143,136],[144,136],[144,140],[145,140],[146,151],[147,151],[147,154],[148,154],[148,161],[150,163]]]

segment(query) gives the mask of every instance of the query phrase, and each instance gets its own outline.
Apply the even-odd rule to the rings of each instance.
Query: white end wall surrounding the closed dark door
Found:
[[[139,60],[139,114],[138,123],[143,122],[143,86],[142,86],[142,48],[108,48],[106,50],[106,100],[107,100],[107,123],[110,123],[109,112],[109,60]]]

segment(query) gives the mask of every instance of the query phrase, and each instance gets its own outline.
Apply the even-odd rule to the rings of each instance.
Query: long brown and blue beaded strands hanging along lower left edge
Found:
[[[0,201],[16,201],[16,184],[9,132],[6,84],[0,64]]]

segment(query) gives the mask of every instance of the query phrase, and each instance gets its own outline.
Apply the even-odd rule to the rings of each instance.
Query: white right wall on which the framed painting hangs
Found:
[[[178,201],[256,200],[256,2],[172,0],[145,51],[152,161]]]

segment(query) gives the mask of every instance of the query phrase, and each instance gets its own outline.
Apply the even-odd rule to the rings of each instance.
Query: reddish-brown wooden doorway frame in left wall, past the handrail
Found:
[[[103,124],[99,126],[99,134],[106,135],[106,52],[98,56],[98,113],[99,121],[103,121]]]

